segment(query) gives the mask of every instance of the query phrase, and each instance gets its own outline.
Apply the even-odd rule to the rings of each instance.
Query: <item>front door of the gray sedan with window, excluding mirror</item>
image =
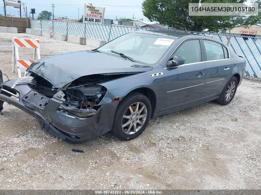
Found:
[[[203,47],[198,39],[182,43],[174,55],[183,56],[185,64],[178,67],[166,67],[163,75],[162,110],[178,108],[200,100],[204,87],[206,64],[202,62]]]

